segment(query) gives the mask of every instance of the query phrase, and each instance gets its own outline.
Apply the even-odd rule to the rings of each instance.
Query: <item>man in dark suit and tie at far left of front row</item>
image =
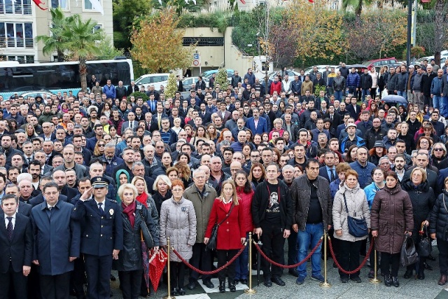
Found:
[[[4,195],[1,200],[0,223],[0,298],[10,293],[15,298],[27,298],[27,276],[33,256],[33,230],[27,216],[16,212],[19,198]],[[12,292],[9,291],[13,286]]]

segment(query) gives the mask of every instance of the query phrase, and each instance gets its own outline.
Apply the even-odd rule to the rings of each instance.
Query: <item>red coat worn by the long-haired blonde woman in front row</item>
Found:
[[[227,219],[223,223],[225,216],[228,212],[225,210],[225,205],[220,198],[216,198],[213,207],[211,208],[209,225],[205,232],[205,237],[209,238],[211,230],[215,224],[221,223],[218,226],[218,234],[216,235],[216,249],[230,250],[240,249],[241,238],[246,237],[246,231],[244,230],[244,212],[241,207],[241,201],[239,204],[235,204]]]

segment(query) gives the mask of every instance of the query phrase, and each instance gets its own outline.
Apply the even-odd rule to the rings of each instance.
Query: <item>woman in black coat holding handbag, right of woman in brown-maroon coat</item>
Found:
[[[420,242],[421,236],[419,231],[421,225],[429,225],[430,213],[433,210],[435,195],[433,188],[430,188],[428,181],[426,181],[426,171],[421,167],[412,169],[411,176],[402,183],[402,187],[411,198],[412,211],[414,214],[414,230],[412,230],[412,239],[414,244]],[[426,258],[420,257],[418,265],[409,265],[404,277],[412,277],[414,268],[418,279],[425,279],[425,265]]]

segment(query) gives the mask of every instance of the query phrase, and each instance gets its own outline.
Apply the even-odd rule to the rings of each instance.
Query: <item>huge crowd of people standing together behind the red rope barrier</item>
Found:
[[[123,298],[148,295],[144,235],[155,251],[167,250],[169,237],[206,272],[214,258],[218,267],[231,260],[249,232],[280,264],[316,247],[311,279],[321,282],[324,231],[346,271],[374,239],[384,284],[399,286],[405,235],[418,244],[422,225],[437,239],[438,284],[446,284],[448,92],[437,94],[434,82],[448,81],[447,68],[436,75],[435,67],[359,76],[341,64],[293,80],[279,73],[270,84],[248,69],[227,86],[200,78],[186,97],[178,77],[173,98],[150,85],[146,102],[132,95],[134,82],[101,87],[94,76],[91,91],[78,95],[0,96],[0,298],[109,298],[111,270]],[[382,102],[384,90],[408,104]],[[368,232],[354,236],[349,218],[364,219]],[[218,272],[221,292],[247,284],[248,260],[246,246]],[[409,265],[405,279],[425,279],[430,260]],[[211,275],[188,272],[176,255],[170,263],[172,294],[185,295],[198,279],[214,288]],[[265,286],[285,286],[281,267],[266,259],[260,266]],[[288,274],[303,284],[307,263]],[[362,281],[359,271],[339,274],[342,283]]]

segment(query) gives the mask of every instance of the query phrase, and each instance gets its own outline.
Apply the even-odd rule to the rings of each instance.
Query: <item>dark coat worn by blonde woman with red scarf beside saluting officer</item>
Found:
[[[141,215],[145,219],[146,226],[154,239],[154,246],[159,246],[159,234],[157,223],[154,223],[151,214],[143,204],[137,202],[135,210],[134,228],[132,228],[129,218],[123,213],[123,207],[120,204],[120,214],[123,218],[123,250],[118,253],[118,260],[113,260],[113,269],[118,271],[134,271],[143,269],[143,260],[141,257]],[[174,256],[174,255],[173,255]]]

